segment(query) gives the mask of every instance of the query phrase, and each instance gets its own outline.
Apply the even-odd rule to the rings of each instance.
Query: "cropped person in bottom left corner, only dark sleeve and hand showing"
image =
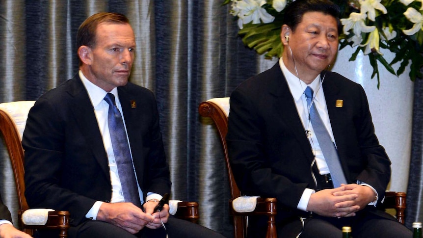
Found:
[[[16,229],[12,224],[9,209],[3,204],[0,196],[0,237],[1,238],[31,238],[25,232]]]

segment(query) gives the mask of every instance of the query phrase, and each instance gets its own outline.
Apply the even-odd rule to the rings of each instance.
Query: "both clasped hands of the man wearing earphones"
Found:
[[[372,202],[375,193],[369,186],[342,184],[333,189],[323,189],[310,196],[307,210],[321,216],[349,217]]]

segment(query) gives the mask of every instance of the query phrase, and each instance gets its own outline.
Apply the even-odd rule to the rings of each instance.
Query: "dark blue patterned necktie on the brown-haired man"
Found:
[[[107,116],[108,128],[110,131],[110,139],[125,202],[132,202],[135,206],[141,207],[138,187],[135,180],[135,172],[132,165],[131,152],[129,150],[122,116],[116,106],[113,94],[107,93],[104,100],[109,105]]]

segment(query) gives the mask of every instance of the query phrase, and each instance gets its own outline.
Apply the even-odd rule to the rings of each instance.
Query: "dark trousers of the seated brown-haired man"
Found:
[[[165,224],[169,238],[224,238],[222,235],[198,224],[170,216]],[[142,229],[138,234],[131,234],[115,225],[97,220],[88,220],[77,227],[69,228],[69,238],[166,238],[166,231]],[[49,232],[50,233],[50,232]],[[41,234],[40,238],[58,237],[57,233]]]

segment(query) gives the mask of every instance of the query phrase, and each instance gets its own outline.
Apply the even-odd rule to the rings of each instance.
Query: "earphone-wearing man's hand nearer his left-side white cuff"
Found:
[[[342,196],[334,196],[333,193],[344,191],[345,187],[337,187],[333,189],[323,189],[310,196],[307,210],[315,212],[321,216],[328,217],[347,217],[354,216],[358,211],[358,206],[354,205],[356,194],[347,194]],[[343,202],[342,207],[339,203]],[[338,205],[337,205],[338,204]]]

